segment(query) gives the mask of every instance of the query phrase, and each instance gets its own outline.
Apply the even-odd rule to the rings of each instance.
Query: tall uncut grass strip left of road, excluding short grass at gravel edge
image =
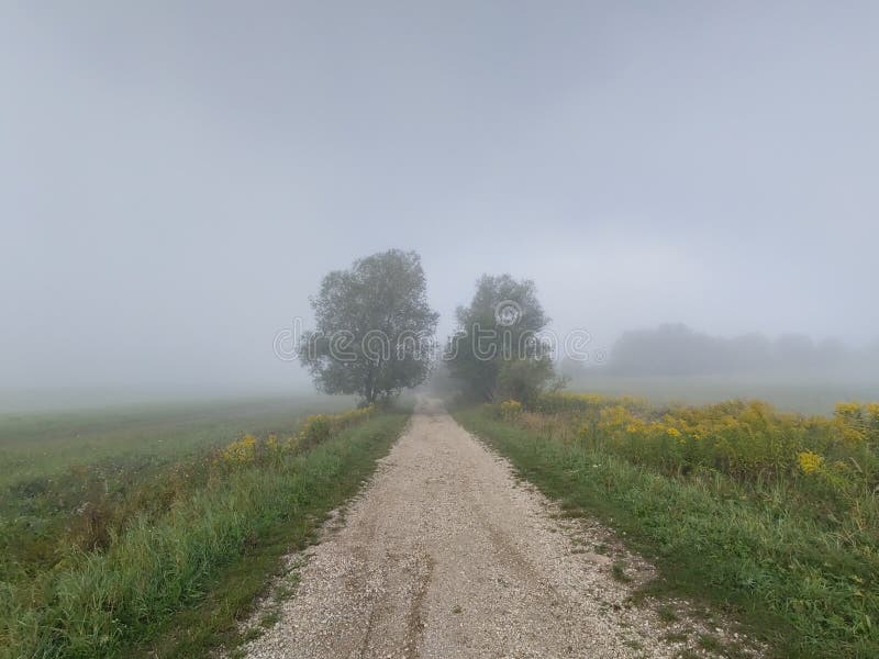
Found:
[[[366,416],[312,418],[318,425],[330,418],[320,437],[300,433],[274,453],[270,438],[255,439],[258,450],[245,460],[200,456],[183,468],[189,478],[164,510],[136,512],[111,528],[105,546],[57,548],[47,569],[8,569],[0,584],[0,656],[108,657],[149,638],[279,524],[313,525],[315,514],[357,487],[405,421]],[[158,472],[142,483],[141,495],[176,479]]]

